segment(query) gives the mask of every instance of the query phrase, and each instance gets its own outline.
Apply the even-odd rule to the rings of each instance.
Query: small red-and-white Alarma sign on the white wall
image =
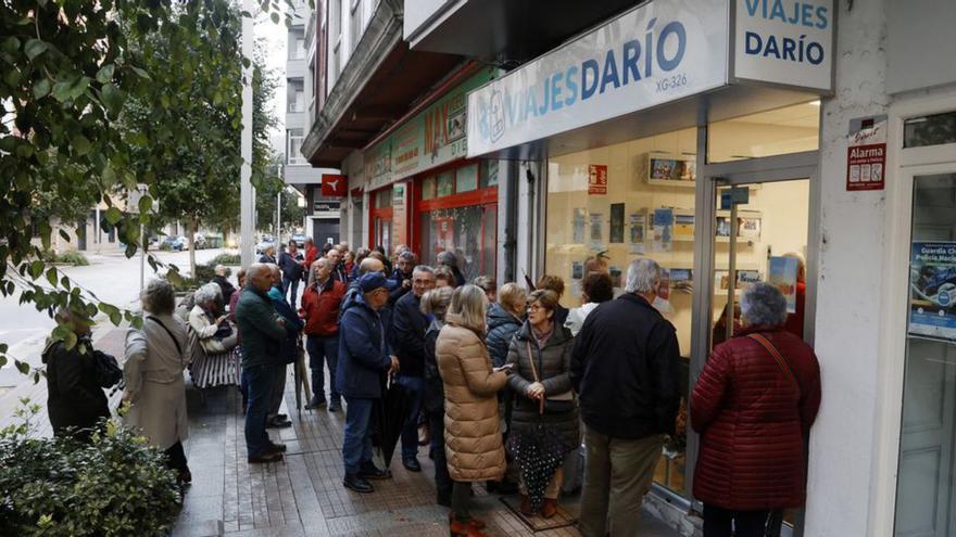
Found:
[[[846,190],[883,190],[886,169],[886,116],[850,122],[846,149]]]

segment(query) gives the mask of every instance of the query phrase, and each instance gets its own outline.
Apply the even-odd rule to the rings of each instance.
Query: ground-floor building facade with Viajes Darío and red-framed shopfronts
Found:
[[[823,402],[787,534],[956,535],[948,2],[357,3],[303,144],[349,181],[351,242],[561,276],[569,307],[594,263],[621,292],[652,257],[684,394],[740,290],[797,289],[803,258],[791,312]],[[651,507],[691,535],[685,412]]]

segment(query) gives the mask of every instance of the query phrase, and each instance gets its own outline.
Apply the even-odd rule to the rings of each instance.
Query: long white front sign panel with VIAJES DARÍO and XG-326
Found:
[[[727,84],[729,0],[654,0],[468,93],[468,156]]]

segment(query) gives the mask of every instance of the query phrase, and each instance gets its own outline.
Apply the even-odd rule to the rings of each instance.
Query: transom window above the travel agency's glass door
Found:
[[[708,126],[707,162],[815,151],[819,136],[819,101],[715,122]]]

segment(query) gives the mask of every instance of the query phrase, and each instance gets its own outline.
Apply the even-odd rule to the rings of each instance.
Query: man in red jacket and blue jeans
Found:
[[[315,247],[312,245],[312,247]],[[312,370],[312,400],[306,408],[323,408],[325,399],[325,371],[329,371],[329,412],[341,406],[336,388],[336,367],[339,357],[339,307],[345,295],[345,284],[331,278],[332,266],[322,257],[313,264],[314,280],[302,294],[299,315],[305,319],[305,349],[309,350],[309,369]]]

